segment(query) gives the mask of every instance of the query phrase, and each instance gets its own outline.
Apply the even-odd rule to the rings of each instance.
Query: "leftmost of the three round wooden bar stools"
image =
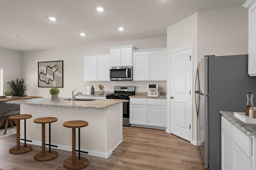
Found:
[[[32,146],[26,145],[26,119],[31,118],[32,115],[12,115],[9,119],[13,120],[17,125],[16,142],[17,146],[9,150],[10,154],[23,154],[32,150]],[[24,145],[20,146],[20,120],[24,119]]]

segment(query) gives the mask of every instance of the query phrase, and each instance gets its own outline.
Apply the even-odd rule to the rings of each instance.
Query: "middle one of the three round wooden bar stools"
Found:
[[[34,123],[42,124],[42,152],[38,152],[34,155],[34,159],[37,161],[48,161],[56,158],[58,152],[51,150],[51,123],[56,122],[58,119],[55,117],[41,117],[34,119]],[[45,151],[45,123],[49,123],[49,150]]]

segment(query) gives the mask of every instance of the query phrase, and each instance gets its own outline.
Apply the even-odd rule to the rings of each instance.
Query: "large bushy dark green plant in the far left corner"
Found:
[[[7,82],[7,84],[10,85],[10,89],[13,92],[12,96],[27,96],[26,91],[27,91],[27,86],[25,84],[24,78],[21,79],[16,79],[16,80],[11,80],[10,82]]]

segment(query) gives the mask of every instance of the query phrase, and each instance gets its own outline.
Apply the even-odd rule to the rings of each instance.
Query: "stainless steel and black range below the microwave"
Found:
[[[114,93],[107,94],[107,99],[123,99],[123,126],[130,126],[130,98],[135,95],[135,86],[114,86]]]

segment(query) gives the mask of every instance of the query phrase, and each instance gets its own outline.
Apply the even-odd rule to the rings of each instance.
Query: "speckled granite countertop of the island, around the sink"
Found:
[[[122,103],[126,100],[116,99],[98,99],[93,101],[73,101],[64,100],[68,98],[58,98],[58,101],[52,102],[52,98],[37,98],[30,100],[16,100],[12,102],[6,102],[9,104],[26,104],[34,106],[53,106],[53,107],[75,107],[75,108],[89,108],[89,109],[105,109],[118,103]],[[70,98],[69,98],[70,99]]]

